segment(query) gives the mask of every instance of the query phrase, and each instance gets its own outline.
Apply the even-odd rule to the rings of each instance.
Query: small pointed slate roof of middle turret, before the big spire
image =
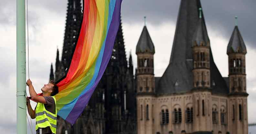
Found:
[[[207,46],[208,44],[210,44],[206,26],[205,26],[205,23],[202,21],[202,19],[199,19],[197,22],[197,28],[191,42],[192,45],[194,45],[194,42],[196,42],[198,46],[200,46],[201,42],[204,42],[203,43],[204,46]]]

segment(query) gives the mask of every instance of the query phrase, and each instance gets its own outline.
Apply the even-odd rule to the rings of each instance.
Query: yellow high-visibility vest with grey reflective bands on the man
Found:
[[[57,108],[56,108],[56,99],[54,96],[51,96],[55,102],[55,114],[47,111],[43,103],[37,103],[36,108],[36,130],[38,128],[50,127],[52,133],[56,134],[57,129]]]

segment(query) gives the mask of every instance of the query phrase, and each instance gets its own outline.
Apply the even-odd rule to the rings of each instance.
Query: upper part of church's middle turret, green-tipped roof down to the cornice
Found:
[[[202,8],[199,8],[199,20],[192,40],[194,59],[194,88],[210,87],[210,40],[206,26],[202,21]]]

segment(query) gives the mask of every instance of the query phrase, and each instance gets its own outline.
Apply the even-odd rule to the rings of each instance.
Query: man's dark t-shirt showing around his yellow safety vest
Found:
[[[47,104],[44,104],[45,109],[53,114],[55,114],[55,102],[54,99],[51,96],[45,96],[44,97]],[[37,106],[35,107],[36,110]],[[37,129],[37,134],[39,134],[39,129],[42,129],[43,134],[48,134],[48,133],[52,133],[50,127],[46,127],[46,128],[38,128]]]

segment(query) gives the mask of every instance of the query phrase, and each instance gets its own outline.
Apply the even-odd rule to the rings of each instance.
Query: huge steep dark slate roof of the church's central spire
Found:
[[[193,88],[191,43],[197,28],[200,7],[200,0],[181,0],[170,63],[156,86],[157,94],[181,93]],[[202,23],[207,32],[203,12]],[[211,87],[213,92],[226,94],[228,88],[213,61],[211,50],[210,73],[211,81],[215,82],[215,86]]]

